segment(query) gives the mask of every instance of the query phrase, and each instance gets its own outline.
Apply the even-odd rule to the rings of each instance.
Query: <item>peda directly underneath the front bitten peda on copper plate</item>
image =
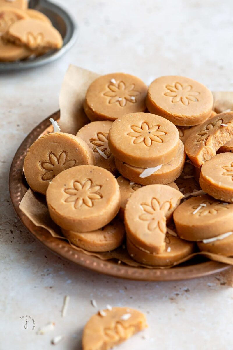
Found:
[[[171,266],[195,250],[194,243],[169,235],[168,232],[166,233],[165,243],[165,250],[162,253],[155,254],[137,247],[129,238],[126,242],[131,258],[140,264],[150,266]]]

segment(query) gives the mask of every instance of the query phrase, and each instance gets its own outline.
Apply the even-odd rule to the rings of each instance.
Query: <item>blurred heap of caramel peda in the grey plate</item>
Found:
[[[50,19],[27,0],[0,0],[0,61],[17,61],[60,49],[63,39]]]

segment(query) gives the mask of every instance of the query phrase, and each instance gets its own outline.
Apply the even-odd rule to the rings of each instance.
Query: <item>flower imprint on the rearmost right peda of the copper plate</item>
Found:
[[[190,101],[198,102],[198,96],[200,93],[198,91],[192,90],[191,85],[182,85],[176,82],[174,85],[166,85],[167,92],[165,96],[172,97],[172,103],[181,102],[184,106],[188,106]]]

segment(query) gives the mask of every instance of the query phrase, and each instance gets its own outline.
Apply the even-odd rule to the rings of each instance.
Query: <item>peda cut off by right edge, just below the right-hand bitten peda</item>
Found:
[[[233,154],[216,154],[206,161],[199,177],[202,190],[212,197],[233,202]]]

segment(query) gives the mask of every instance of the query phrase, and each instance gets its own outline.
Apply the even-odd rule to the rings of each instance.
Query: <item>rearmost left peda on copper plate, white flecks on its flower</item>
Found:
[[[147,86],[141,79],[126,73],[111,73],[90,84],[83,108],[92,121],[114,121],[127,113],[144,112],[146,94]]]

